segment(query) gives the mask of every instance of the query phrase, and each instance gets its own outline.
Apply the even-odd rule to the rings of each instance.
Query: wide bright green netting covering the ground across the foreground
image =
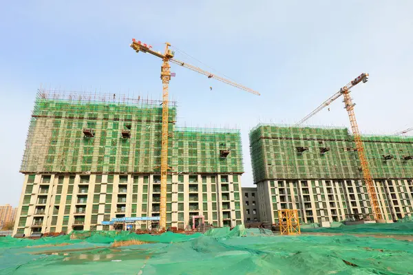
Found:
[[[0,274],[409,274],[413,271],[412,243],[391,238],[266,235],[265,231],[242,226],[231,231],[214,228],[193,235],[127,233],[76,232],[76,237],[85,239],[59,236],[36,241],[3,237]],[[113,242],[129,238],[151,243],[116,248],[107,243],[111,239]]]

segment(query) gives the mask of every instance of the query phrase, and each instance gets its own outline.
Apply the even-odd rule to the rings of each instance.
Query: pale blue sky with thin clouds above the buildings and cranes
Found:
[[[177,59],[260,91],[254,96],[172,65],[178,125],[241,129],[244,186],[253,185],[253,126],[293,124],[361,72],[370,74],[352,92],[361,131],[413,126],[412,12],[409,0],[3,1],[0,204],[19,203],[19,167],[41,84],[160,98],[161,61],[134,53],[132,38],[155,50],[168,41],[202,63]],[[349,125],[341,100],[308,123]]]

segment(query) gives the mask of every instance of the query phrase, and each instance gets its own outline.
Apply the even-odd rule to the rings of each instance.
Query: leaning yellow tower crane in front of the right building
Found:
[[[357,126],[356,117],[354,115],[355,104],[352,102],[352,98],[350,98],[350,89],[361,82],[366,83],[367,81],[368,81],[368,74],[365,74],[365,73],[359,75],[357,78],[354,78],[354,80],[350,81],[350,83],[342,87],[339,91],[337,91],[336,94],[328,98],[328,100],[323,102],[319,107],[317,107],[309,115],[307,115],[305,118],[297,122],[296,125],[298,126],[299,124],[302,124],[303,122],[311,118],[313,115],[315,115],[316,113],[324,109],[324,107],[328,106],[331,102],[333,102],[334,100],[339,98],[341,95],[343,95],[344,97],[343,102],[345,104],[345,109],[348,112],[348,117],[350,118],[350,124],[351,124],[351,129],[352,129],[352,133],[354,137],[354,142],[356,144],[357,153],[359,154],[361,170],[363,172],[363,180],[366,183],[367,190],[368,190],[368,196],[370,198],[370,203],[372,205],[372,214],[374,216],[374,219],[381,220],[383,219],[383,216],[381,214],[379,201],[377,200],[377,194],[376,194],[376,190],[374,189],[373,179],[370,173],[370,168],[368,167],[366,154],[364,153],[363,142],[361,142],[359,126]]]

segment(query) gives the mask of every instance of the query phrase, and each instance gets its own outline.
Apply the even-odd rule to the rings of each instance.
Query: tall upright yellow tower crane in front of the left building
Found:
[[[162,138],[161,138],[161,150],[160,150],[160,230],[165,230],[167,228],[167,173],[168,173],[168,113],[169,113],[169,94],[168,94],[168,86],[169,80],[171,80],[171,66],[169,62],[181,65],[182,67],[186,67],[187,69],[191,69],[194,72],[198,72],[207,76],[208,78],[214,78],[216,80],[220,80],[223,83],[236,87],[238,89],[242,89],[244,91],[248,91],[251,94],[255,94],[260,96],[260,93],[235,83],[231,80],[226,78],[222,78],[220,76],[216,76],[211,74],[210,72],[204,71],[199,67],[195,67],[188,63],[184,63],[182,61],[178,61],[174,59],[175,52],[169,49],[171,46],[170,43],[165,43],[165,53],[161,54],[160,52],[155,52],[151,50],[152,46],[142,43],[140,41],[136,41],[132,39],[132,43],[130,45],[136,52],[145,52],[147,54],[152,54],[153,56],[157,56],[162,58],[162,66],[160,71],[160,79],[162,80]],[[212,89],[210,87],[210,89]]]

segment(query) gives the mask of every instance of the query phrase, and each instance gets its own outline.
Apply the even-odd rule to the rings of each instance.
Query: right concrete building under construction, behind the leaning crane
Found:
[[[342,221],[372,209],[354,138],[346,128],[259,124],[251,161],[262,221],[297,209],[302,223]],[[413,137],[363,135],[383,219],[413,212]]]

